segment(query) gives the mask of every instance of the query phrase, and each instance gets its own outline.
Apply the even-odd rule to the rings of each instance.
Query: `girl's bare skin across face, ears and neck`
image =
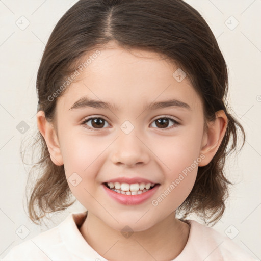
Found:
[[[176,208],[193,188],[198,166],[207,165],[215,155],[226,131],[224,111],[208,122],[203,131],[202,101],[188,77],[177,82],[176,71],[159,54],[145,50],[126,50],[110,42],[99,49],[101,54],[57,100],[57,132],[37,113],[37,125],[43,135],[51,160],[64,164],[68,178],[76,172],[82,178],[77,186],[68,181],[73,195],[88,210],[80,228],[84,239],[109,260],[170,260],[184,249],[190,227],[175,218]],[[88,54],[89,56],[90,54]],[[86,59],[86,58],[85,58]],[[69,110],[73,103],[88,95],[92,99],[114,103],[119,110],[82,108]],[[185,108],[145,110],[154,101],[177,99],[188,103]],[[90,116],[102,117],[104,126],[97,128]],[[165,127],[156,119],[172,117]],[[128,120],[134,126],[125,134],[120,128]],[[153,206],[173,180],[200,155],[198,165],[174,190]],[[107,196],[102,182],[116,177],[142,177],[160,183],[152,198],[138,205],[124,205]],[[125,238],[121,229],[134,231]],[[160,239],[160,240],[159,240]],[[105,254],[106,253],[106,254]]]

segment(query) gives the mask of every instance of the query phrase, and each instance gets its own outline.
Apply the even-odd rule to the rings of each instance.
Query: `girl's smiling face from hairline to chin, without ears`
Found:
[[[188,77],[173,76],[178,68],[158,54],[113,44],[99,50],[57,100],[62,162],[89,213],[114,229],[142,231],[192,190],[203,156],[202,102]],[[144,192],[142,183],[155,185]],[[136,195],[107,188],[126,191],[130,184]]]

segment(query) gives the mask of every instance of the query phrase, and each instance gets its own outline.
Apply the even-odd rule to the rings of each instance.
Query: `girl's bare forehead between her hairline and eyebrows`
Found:
[[[98,55],[93,55],[96,50]],[[68,111],[85,95],[117,109],[138,105],[144,109],[145,103],[170,98],[188,103],[193,110],[202,109],[201,99],[188,77],[177,81],[178,67],[158,53],[108,44],[90,51],[81,61],[82,65],[88,63],[58,98],[59,109]]]

